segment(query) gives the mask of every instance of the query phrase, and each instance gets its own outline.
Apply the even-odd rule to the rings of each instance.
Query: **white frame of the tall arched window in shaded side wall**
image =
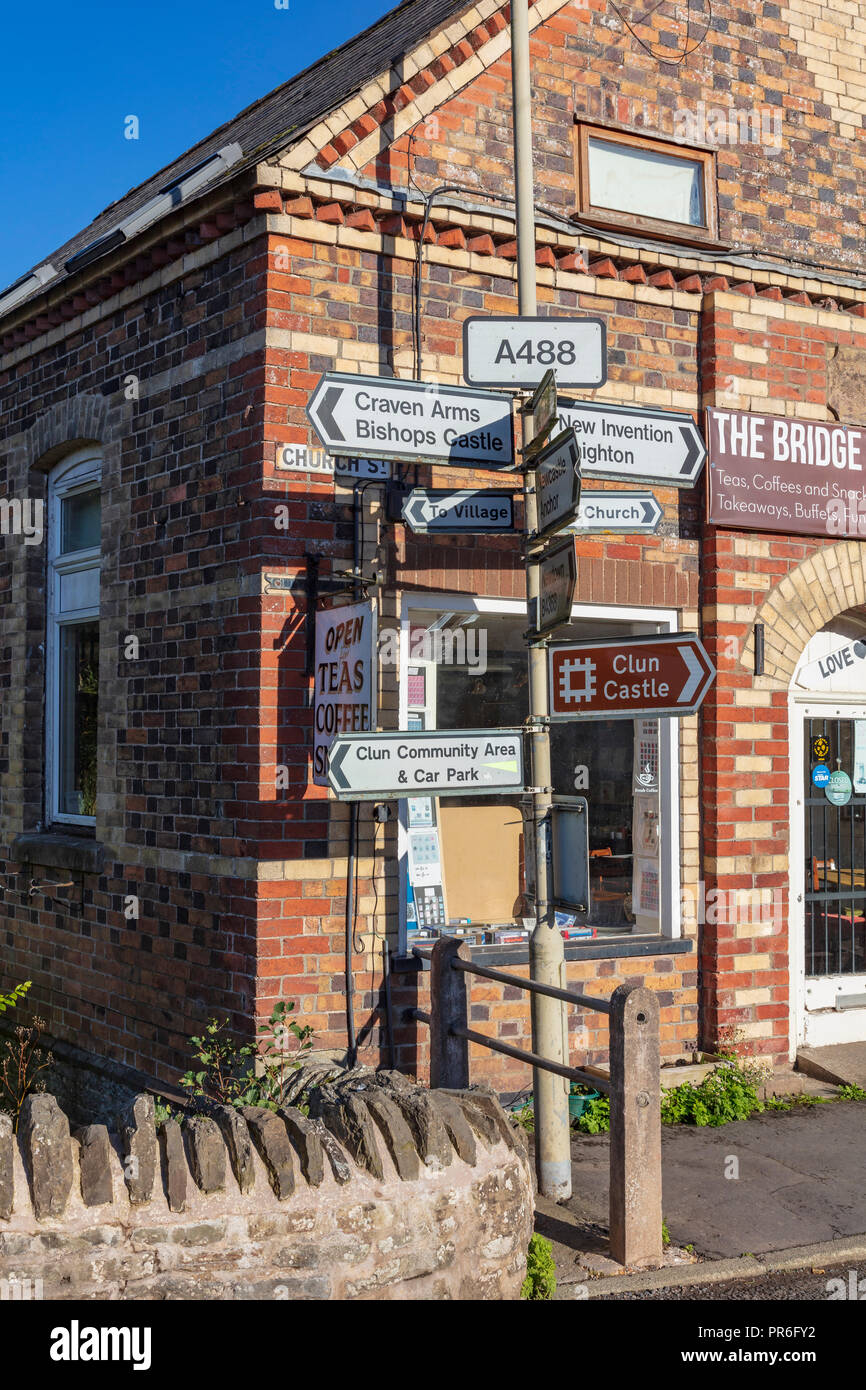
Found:
[[[46,610],[46,821],[95,826],[96,816],[72,816],[60,809],[60,637],[64,627],[99,619],[93,607],[60,612],[60,581],[65,574],[100,570],[101,545],[60,555],[61,503],[101,484],[101,455],[93,446],[68,455],[49,477],[49,549]]]

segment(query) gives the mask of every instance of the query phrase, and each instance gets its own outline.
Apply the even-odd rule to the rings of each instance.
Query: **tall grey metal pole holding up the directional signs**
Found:
[[[514,192],[517,202],[517,296],[521,317],[537,313],[535,206],[532,193],[532,122],[530,88],[530,19],[527,0],[512,0],[512,97],[514,110]],[[524,450],[535,434],[524,418]],[[538,503],[532,473],[525,477],[527,535],[538,530]],[[527,563],[530,620],[539,614],[538,564]],[[532,796],[535,821],[535,930],[530,938],[530,974],[541,984],[564,988],[566,951],[556,930],[550,902],[550,734],[548,714],[548,659],[544,641],[530,642],[530,720],[532,746]],[[541,723],[539,723],[541,720]],[[564,1005],[532,994],[532,1051],[569,1065]],[[553,1201],[571,1195],[571,1141],[567,1081],[550,1072],[532,1073],[535,1108],[535,1172],[538,1188]]]

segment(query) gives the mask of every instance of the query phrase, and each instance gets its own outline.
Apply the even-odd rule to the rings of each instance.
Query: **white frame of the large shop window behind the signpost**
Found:
[[[523,614],[525,602],[518,599],[477,598],[467,594],[414,594],[405,591],[400,606],[400,651],[399,651],[399,727],[409,727],[409,667],[416,664],[410,655],[410,623],[413,609],[438,609],[452,613],[502,613]],[[660,632],[677,632],[680,614],[676,609],[619,607],[612,603],[575,603],[571,621],[591,619],[598,623],[656,623]],[[659,905],[660,935],[678,940],[683,935],[681,915],[681,869],[680,869],[680,720],[659,720],[659,819],[663,828],[659,853]],[[667,849],[664,848],[664,827],[667,827]],[[399,949],[407,942],[406,888],[409,881],[409,834],[406,823],[406,802],[399,802],[398,820],[398,866],[399,866]],[[628,940],[628,933],[610,937],[610,941]]]

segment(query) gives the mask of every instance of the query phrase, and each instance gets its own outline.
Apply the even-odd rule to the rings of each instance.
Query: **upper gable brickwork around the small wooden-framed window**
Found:
[[[727,131],[719,143],[720,240],[856,271],[865,218],[858,190],[863,174],[858,100],[862,111],[865,89],[862,78],[859,86],[856,81],[852,85],[852,74],[837,67],[853,67],[862,36],[853,29],[845,33],[851,11],[841,7],[826,15],[826,22],[838,29],[835,43],[820,35],[816,40],[810,32],[817,15],[799,14],[795,24],[802,22],[805,39],[798,40],[795,24],[785,14],[781,6],[763,0],[714,3],[712,25],[702,39],[708,11],[696,17],[692,13],[689,57],[678,63],[687,42],[685,11],[664,6],[638,26],[639,39],[652,50],[648,53],[603,0],[564,4],[534,29],[530,44],[538,200],[574,211],[575,117],[713,146],[713,111],[728,117],[731,111],[777,110],[780,149],[766,140],[734,143]],[[491,21],[481,32],[485,29],[489,35],[498,32]],[[816,42],[827,51],[819,51]],[[457,44],[438,58],[431,74],[448,71],[459,81],[473,47]],[[484,58],[484,43],[477,51]],[[664,56],[671,61],[666,63]],[[402,136],[364,172],[393,177],[395,168],[406,168],[411,154],[424,186],[449,178],[489,192],[509,188],[510,83],[506,49],[488,71],[413,131],[411,150],[410,138]],[[840,90],[847,90],[848,97],[840,100]],[[689,140],[683,113],[698,118],[701,103],[703,126],[691,126],[695,133]],[[377,120],[388,114],[386,103],[379,106],[384,110],[373,113]],[[840,106],[845,110],[840,111]],[[769,135],[776,139],[774,126]]]

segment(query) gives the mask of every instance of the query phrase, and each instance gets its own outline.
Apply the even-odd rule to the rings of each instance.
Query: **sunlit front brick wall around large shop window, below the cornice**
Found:
[[[336,214],[329,214],[329,217]],[[300,218],[293,220],[293,228],[303,228]],[[336,225],[341,225],[339,222]],[[275,327],[292,327],[302,334],[303,341],[311,339],[314,350],[268,349],[267,363],[267,406],[265,406],[265,459],[271,460],[277,446],[285,442],[316,443],[306,417],[306,402],[318,381],[321,371],[346,370],[341,353],[350,341],[352,331],[370,325],[368,332],[378,334],[377,360],[366,361],[364,370],[391,374],[399,354],[406,353],[411,339],[411,322],[407,316],[410,300],[405,289],[410,284],[411,261],[392,254],[374,253],[363,246],[357,250],[341,247],[329,239],[321,240],[322,229],[313,224],[310,239],[299,232],[292,236],[272,235],[268,316]],[[286,263],[288,259],[288,263]],[[385,277],[382,279],[382,277]],[[379,325],[391,327],[382,336],[381,328],[370,322],[374,313],[371,286],[381,285],[375,317]],[[334,291],[338,291],[336,299]],[[553,291],[541,288],[541,299],[557,309],[578,307],[581,311],[598,313],[607,324],[610,348],[610,377],[617,386],[626,389],[639,378],[638,361],[642,353],[649,353],[655,389],[667,392],[696,392],[696,314],[673,303],[659,302],[663,296],[651,292],[646,302],[596,295],[577,295],[569,289]],[[655,300],[655,302],[653,302]],[[335,317],[335,304],[339,317]],[[271,307],[272,306],[272,307]],[[438,354],[442,370],[459,379],[461,370],[461,320],[468,313],[503,313],[516,309],[513,282],[500,281],[460,264],[453,268],[431,267],[425,272],[423,306],[423,339],[425,352]],[[361,341],[367,341],[366,335]],[[329,350],[327,350],[329,346]],[[320,350],[321,348],[321,350]],[[685,356],[685,352],[691,356]],[[400,359],[402,360],[402,359]],[[402,371],[403,368],[400,368]],[[288,424],[286,424],[288,421]],[[417,466],[409,471],[411,482],[445,485],[467,484],[466,470],[431,468]],[[350,525],[348,505],[350,495],[335,495],[328,480],[278,473],[265,463],[265,488],[274,502],[286,500],[292,514],[292,531],[281,537],[274,556],[274,569],[281,574],[300,580],[304,571],[306,553],[322,556],[321,573],[345,569],[350,563]],[[471,474],[473,482],[482,485],[513,486],[514,480],[503,474]],[[588,481],[587,488],[601,486]],[[610,484],[605,484],[610,486]],[[613,484],[616,486],[616,484]],[[659,488],[659,500],[664,507],[662,534],[642,539],[631,538],[587,538],[577,542],[578,549],[578,594],[581,602],[630,603],[635,606],[669,606],[695,610],[698,602],[698,507],[695,492],[676,488]],[[342,499],[342,500],[341,500]],[[416,591],[420,595],[430,591],[453,591],[500,596],[524,598],[524,573],[520,549],[514,539],[503,538],[423,538],[413,535],[400,524],[381,528],[381,559],[386,564],[389,587],[403,592]],[[367,566],[371,563],[373,546],[367,549]],[[391,592],[391,588],[389,591]],[[299,659],[284,669],[282,659],[270,653],[271,642],[278,646],[278,634],[284,630],[288,616],[297,613],[296,600],[282,596],[265,599],[263,639],[263,689],[261,724],[263,748],[272,751],[275,764],[288,763],[291,769],[291,792],[272,792],[270,769],[263,767],[261,788],[264,816],[267,820],[267,798],[274,798],[274,817],[270,838],[263,840],[264,858],[285,858],[303,862],[303,877],[293,880],[286,863],[285,880],[260,885],[259,912],[259,1012],[265,1013],[270,1004],[279,997],[297,995],[302,999],[304,1022],[316,1029],[316,1041],[321,1047],[341,1048],[345,1045],[345,858],[343,856],[345,808],[328,803],[325,792],[309,781],[311,749],[311,705],[309,691],[311,681],[304,677]],[[291,644],[289,644],[291,649]],[[274,698],[274,677],[265,673],[277,667],[279,676],[279,698]],[[384,692],[385,694],[385,692]],[[388,716],[384,716],[385,721]],[[363,844],[367,855],[371,845],[368,813],[361,812]],[[309,855],[304,859],[304,837],[309,835]],[[327,837],[331,859],[321,852],[321,865],[316,862],[316,847]],[[379,1047],[386,1048],[382,1017],[382,974],[381,941],[388,924],[392,944],[395,940],[395,894],[396,865],[395,841],[388,831],[378,841],[377,884],[368,876],[364,859],[359,901],[366,903],[359,912],[357,935],[361,948],[354,955],[357,972],[357,1027],[364,1037],[363,1056],[366,1061],[378,1055]],[[389,860],[389,862],[386,862]],[[385,877],[382,869],[385,865]],[[318,877],[317,870],[321,873]],[[314,874],[314,877],[310,877]],[[378,906],[391,912],[389,917],[374,917],[368,910],[371,894],[378,892]],[[623,979],[644,979],[646,973],[653,987],[667,990],[663,1004],[666,1055],[681,1055],[687,1044],[696,1040],[696,973],[692,956],[662,958],[664,972],[655,962],[646,967],[642,962],[599,962],[591,966],[573,966],[574,977],[602,980],[602,988],[610,991]],[[395,1017],[399,1024],[400,1012],[407,1001],[417,998],[417,990],[425,988],[424,979],[409,979],[395,986]],[[499,987],[481,988],[477,1009],[487,1011],[489,1026],[493,1027],[502,1015],[510,1033],[528,1045],[528,1006],[521,999],[507,999],[502,1004]],[[423,1001],[421,1001],[423,1002]],[[574,1026],[581,1023],[574,1019]],[[596,1026],[598,1024],[598,1026]],[[423,1031],[423,1030],[421,1030]],[[587,1034],[580,1034],[595,1059],[606,1051],[606,1020],[595,1020]],[[416,1047],[421,1052],[416,1052]],[[399,1026],[399,1061],[410,1070],[424,1068],[424,1040],[413,1027]],[[491,1062],[489,1056],[478,1059],[478,1074],[488,1079],[499,1077],[505,1084],[509,1073],[502,1059]],[[505,1070],[503,1070],[505,1068]],[[520,1073],[518,1063],[513,1069]],[[520,1081],[516,1076],[514,1088]]]

